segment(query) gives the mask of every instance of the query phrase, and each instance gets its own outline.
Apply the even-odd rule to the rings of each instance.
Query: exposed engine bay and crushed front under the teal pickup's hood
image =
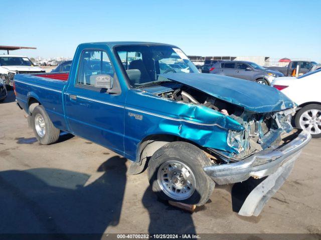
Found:
[[[177,89],[158,93],[157,95],[175,101],[204,105],[242,124],[243,131],[229,130],[228,132],[227,143],[235,149],[234,152],[214,148],[206,149],[209,154],[220,158],[220,161],[238,161],[255,152],[267,148],[276,148],[282,141],[282,134],[288,133],[293,129],[290,121],[291,116],[295,113],[295,108],[267,113],[246,111],[241,106],[216,98],[187,85],[182,85]]]

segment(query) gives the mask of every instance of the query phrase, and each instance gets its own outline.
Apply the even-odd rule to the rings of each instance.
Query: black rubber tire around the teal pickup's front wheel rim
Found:
[[[157,172],[159,167],[170,160],[184,163],[195,176],[195,191],[187,199],[170,197],[162,190],[161,185],[158,183]],[[151,156],[147,170],[149,184],[152,191],[163,200],[203,205],[208,201],[215,186],[214,181],[203,170],[203,167],[210,165],[212,165],[210,159],[197,146],[183,141],[170,142],[159,148]]]

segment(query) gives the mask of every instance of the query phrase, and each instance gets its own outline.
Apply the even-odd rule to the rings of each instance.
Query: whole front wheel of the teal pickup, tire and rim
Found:
[[[164,200],[203,205],[215,183],[203,168],[212,165],[197,146],[176,141],[159,148],[148,162],[151,189]]]

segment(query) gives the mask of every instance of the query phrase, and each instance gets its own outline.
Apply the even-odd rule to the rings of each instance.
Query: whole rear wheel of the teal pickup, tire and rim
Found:
[[[53,125],[42,105],[36,106],[33,110],[31,123],[36,138],[41,144],[48,145],[58,140],[60,130]]]

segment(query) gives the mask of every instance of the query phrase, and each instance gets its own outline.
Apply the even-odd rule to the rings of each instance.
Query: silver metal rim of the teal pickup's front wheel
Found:
[[[180,161],[164,162],[157,171],[157,182],[163,192],[175,200],[193,195],[196,180],[191,168]]]

